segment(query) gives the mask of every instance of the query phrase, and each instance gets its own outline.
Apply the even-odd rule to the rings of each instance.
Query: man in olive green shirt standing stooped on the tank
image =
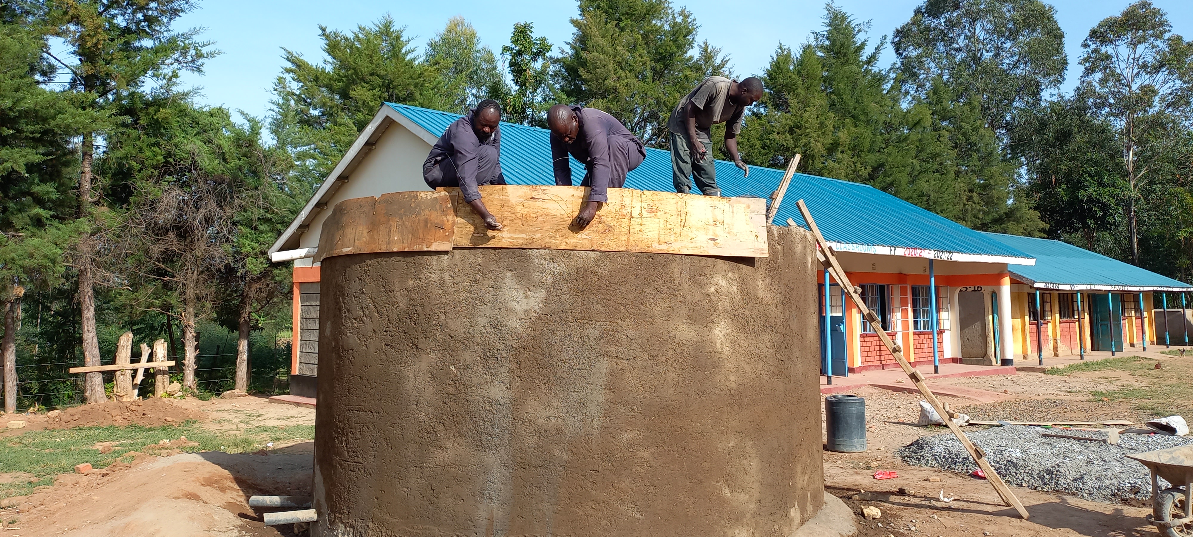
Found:
[[[713,168],[712,125],[725,123],[725,149],[734,163],[749,177],[749,167],[737,154],[737,134],[742,130],[746,107],[762,98],[762,81],[750,76],[741,82],[724,76],[709,76],[696,90],[684,95],[672,111],[667,130],[670,131],[672,178],[675,191],[688,193],[692,181],[705,196],[721,196],[717,171]]]

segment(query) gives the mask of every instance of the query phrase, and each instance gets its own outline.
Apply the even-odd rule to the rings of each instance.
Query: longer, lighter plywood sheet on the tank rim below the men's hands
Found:
[[[655,252],[767,257],[766,200],[610,189],[587,228],[573,223],[588,189],[481,186],[486,208],[503,229],[490,232],[459,189],[451,195],[456,247]]]

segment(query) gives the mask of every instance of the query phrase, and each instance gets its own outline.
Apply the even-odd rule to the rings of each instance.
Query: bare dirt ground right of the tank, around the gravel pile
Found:
[[[1193,370],[1193,360],[1161,362],[1164,363],[1162,371],[1166,371],[1168,381],[1187,378],[1188,370]],[[1151,368],[1148,363],[1137,369],[1149,371]],[[1067,376],[1020,372],[932,382],[1006,393],[1010,397],[985,405],[960,397],[941,397],[954,409],[975,419],[1129,419],[1142,422],[1157,416],[1156,411],[1149,409],[1145,401],[1099,396],[1099,390],[1139,390],[1151,385],[1150,381],[1126,371],[1082,371]],[[1160,383],[1163,384],[1164,381]],[[855,394],[866,399],[870,449],[864,453],[824,451],[824,484],[829,493],[845,500],[855,512],[860,513],[864,505],[882,511],[882,517],[877,520],[859,517],[860,536],[1160,535],[1144,520],[1151,513],[1150,504],[1102,504],[1012,487],[1031,513],[1030,520],[1021,520],[1013,508],[1002,505],[997,493],[985,480],[933,468],[909,467],[895,456],[895,450],[921,436],[948,433],[944,427],[907,425],[914,424],[919,418],[921,397],[917,394],[878,388],[861,388]],[[876,470],[895,470],[898,477],[874,480]],[[860,494],[863,490],[870,494]],[[954,499],[940,501],[941,493],[945,498]],[[853,499],[855,495],[858,500]]]

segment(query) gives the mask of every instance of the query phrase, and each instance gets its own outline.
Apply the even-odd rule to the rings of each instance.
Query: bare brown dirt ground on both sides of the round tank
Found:
[[[1139,421],[1155,416],[1157,411],[1150,409],[1145,401],[1118,397],[1113,393],[1146,393],[1155,385],[1183,382],[1193,374],[1193,359],[1162,362],[1163,370],[1154,370],[1151,363],[1135,364],[1137,375],[1096,370],[1068,376],[1019,374],[933,382],[1007,396],[1003,401],[984,405],[962,397],[942,397],[953,408],[975,418]],[[1109,396],[1101,396],[1104,393]],[[878,388],[861,388],[857,395],[866,397],[869,451],[824,451],[823,461],[829,493],[843,499],[855,512],[865,505],[882,511],[877,520],[864,520],[859,516],[859,535],[863,537],[1158,535],[1144,521],[1144,516],[1150,513],[1150,506],[1144,504],[1102,504],[1014,488],[1032,516],[1030,520],[1021,520],[1014,510],[1001,504],[984,480],[909,467],[896,458],[895,450],[921,436],[947,433],[942,427],[909,425],[919,418],[919,395]],[[185,419],[200,415],[203,428],[220,434],[236,434],[253,427],[280,430],[314,424],[313,409],[273,405],[264,397],[168,403],[168,408],[150,414],[161,420],[165,416]],[[113,406],[113,409],[116,415],[105,411],[109,421],[97,422],[117,425],[122,419],[129,420],[129,413],[135,414],[130,408],[120,411]],[[69,419],[66,413],[63,415]],[[95,415],[97,420],[103,419],[101,414]],[[0,428],[0,442],[12,440],[23,431],[51,425],[44,414],[0,416],[0,421],[7,419],[27,420],[30,428]],[[291,526],[264,526],[260,511],[251,510],[247,498],[253,494],[308,495],[313,455],[310,442],[278,442],[273,446],[242,453],[179,452],[179,448],[188,444],[193,443],[169,439],[161,446],[147,446],[144,452],[126,453],[105,469],[87,475],[60,475],[52,486],[37,487],[26,496],[0,500],[0,537],[295,535]],[[876,470],[895,470],[898,477],[878,481],[873,479]],[[0,482],[30,477],[31,474],[4,474]],[[953,500],[941,501],[941,494]]]

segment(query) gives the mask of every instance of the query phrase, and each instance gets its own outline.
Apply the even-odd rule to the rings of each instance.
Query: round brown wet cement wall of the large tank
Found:
[[[315,536],[786,536],[820,511],[815,246],[322,261]]]

